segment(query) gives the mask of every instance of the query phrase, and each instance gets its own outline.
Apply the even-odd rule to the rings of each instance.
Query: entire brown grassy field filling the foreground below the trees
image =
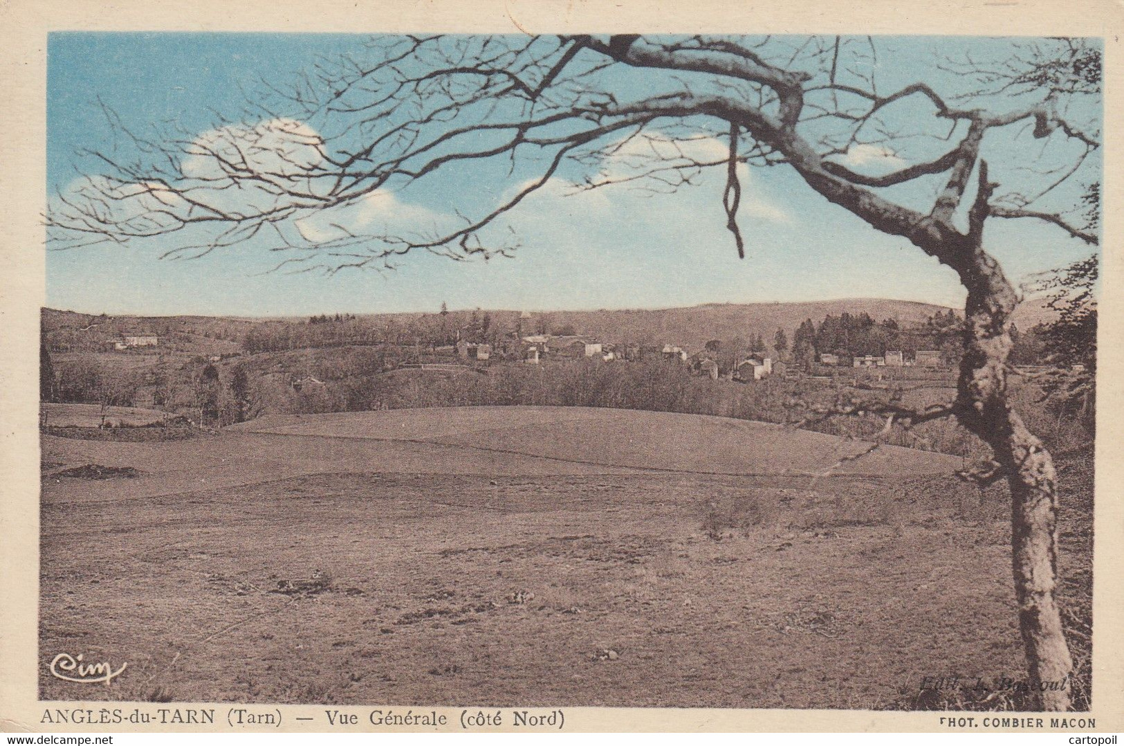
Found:
[[[129,664],[45,699],[886,708],[1023,677],[1007,507],[952,457],[552,407],[43,448],[42,669]]]

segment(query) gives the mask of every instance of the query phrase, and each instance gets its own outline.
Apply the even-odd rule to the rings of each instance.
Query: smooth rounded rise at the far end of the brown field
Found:
[[[593,407],[439,407],[262,417],[239,432],[425,442],[599,466],[709,474],[949,474],[961,459],[780,425]]]

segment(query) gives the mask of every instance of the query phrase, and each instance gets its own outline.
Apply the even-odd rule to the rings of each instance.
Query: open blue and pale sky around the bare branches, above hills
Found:
[[[53,34],[48,42],[47,178],[65,189],[97,163],[83,149],[110,146],[99,99],[126,126],[176,122],[211,127],[210,110],[235,116],[243,91],[262,77],[284,79],[318,56],[357,52],[368,37],[282,34]],[[961,81],[935,69],[935,55],[1005,54],[1003,39],[880,38],[881,91],[925,80],[952,95]],[[634,83],[642,87],[644,83]],[[996,106],[1001,107],[1003,101]],[[1013,107],[1013,105],[1012,105]],[[1081,113],[1096,118],[1098,113]],[[908,122],[904,108],[901,122]],[[891,119],[892,122],[892,119]],[[254,124],[254,123],[247,123]],[[1014,128],[1009,128],[1014,131]],[[1036,141],[1003,131],[987,146],[994,162],[1035,165]],[[1064,143],[1044,159],[1061,158]],[[1099,160],[1081,173],[1099,179]],[[1028,188],[1025,171],[1005,186]],[[491,171],[415,188],[386,209],[401,219],[479,208],[510,189]],[[246,242],[193,261],[160,260],[166,240],[126,248],[47,252],[47,304],[88,313],[305,315],[450,308],[578,309],[700,303],[886,297],[961,305],[951,270],[900,239],[882,235],[813,192],[786,167],[746,173],[738,260],[720,204],[723,174],[674,195],[609,187],[579,196],[546,189],[514,212],[515,258],[452,262],[417,253],[392,272],[270,272],[278,258]],[[894,196],[923,204],[924,186]],[[471,195],[471,197],[465,197]],[[1016,281],[1087,255],[1060,231],[1030,221],[989,222],[987,242]]]

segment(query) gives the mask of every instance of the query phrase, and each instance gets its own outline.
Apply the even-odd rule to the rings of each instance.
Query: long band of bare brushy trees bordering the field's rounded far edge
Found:
[[[791,423],[807,414],[803,405],[794,403],[830,404],[839,395],[833,385],[812,379],[772,377],[753,386],[729,386],[692,376],[688,367],[662,358],[644,358],[627,366],[605,366],[596,360],[509,366],[500,374],[402,370],[392,375],[360,371],[339,376],[341,366],[352,368],[345,365],[350,358],[348,354],[332,363],[317,362],[316,375],[324,380],[323,386],[306,386],[300,392],[259,387],[254,396],[268,399],[264,406],[278,413],[434,406],[596,406]],[[1078,423],[1059,422],[1051,415],[1039,401],[1036,386],[1025,388],[1019,401],[1035,424],[1051,437],[1051,444],[1069,446],[1082,438]],[[255,406],[260,410],[263,405]],[[871,438],[885,425],[885,417],[877,415],[837,415],[801,426],[834,435]],[[912,431],[895,425],[890,433],[882,433],[882,440],[955,456],[980,457],[987,452],[978,438],[949,421],[925,423]]]

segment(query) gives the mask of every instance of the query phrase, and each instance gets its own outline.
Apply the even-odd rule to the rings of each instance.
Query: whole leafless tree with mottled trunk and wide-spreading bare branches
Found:
[[[284,255],[278,268],[296,271],[387,269],[414,251],[487,259],[517,248],[504,217],[554,180],[573,191],[676,191],[725,167],[726,228],[742,257],[738,167],[791,168],[810,191],[952,268],[968,290],[954,403],[915,411],[840,401],[808,405],[801,422],[886,417],[873,450],[895,428],[955,416],[987,442],[994,464],[968,476],[1007,480],[1030,674],[1060,681],[1072,662],[1053,595],[1055,475],[1008,402],[1018,294],[987,251],[986,228],[989,217],[1036,218],[1097,243],[1099,174],[1087,176],[1099,118],[1082,120],[1082,111],[1099,113],[1100,51],[1084,39],[1009,46],[997,60],[945,62],[964,81],[951,93],[917,80],[882,96],[874,70],[885,60],[869,37],[377,37],[364,55],[265,81],[241,118],[216,114],[207,132],[174,123],[134,132],[103,107],[119,142],[84,154],[103,172],[55,195],[48,237],[53,249],[158,239],[173,244],[165,257],[199,258],[269,235],[279,243],[266,248]],[[1022,146],[1027,134],[1033,151]],[[1021,147],[989,164],[980,154],[997,138]],[[927,147],[921,155],[917,144]],[[862,149],[882,154],[889,171],[864,173]],[[622,162],[623,173],[607,172]],[[490,201],[468,190],[410,225],[364,217],[489,164],[506,167],[511,181]],[[1004,165],[1022,168],[1024,183],[992,199]],[[1096,187],[1075,198],[1085,226],[1046,204],[1082,180]],[[1064,691],[1042,698],[1048,709],[1068,707]]]

